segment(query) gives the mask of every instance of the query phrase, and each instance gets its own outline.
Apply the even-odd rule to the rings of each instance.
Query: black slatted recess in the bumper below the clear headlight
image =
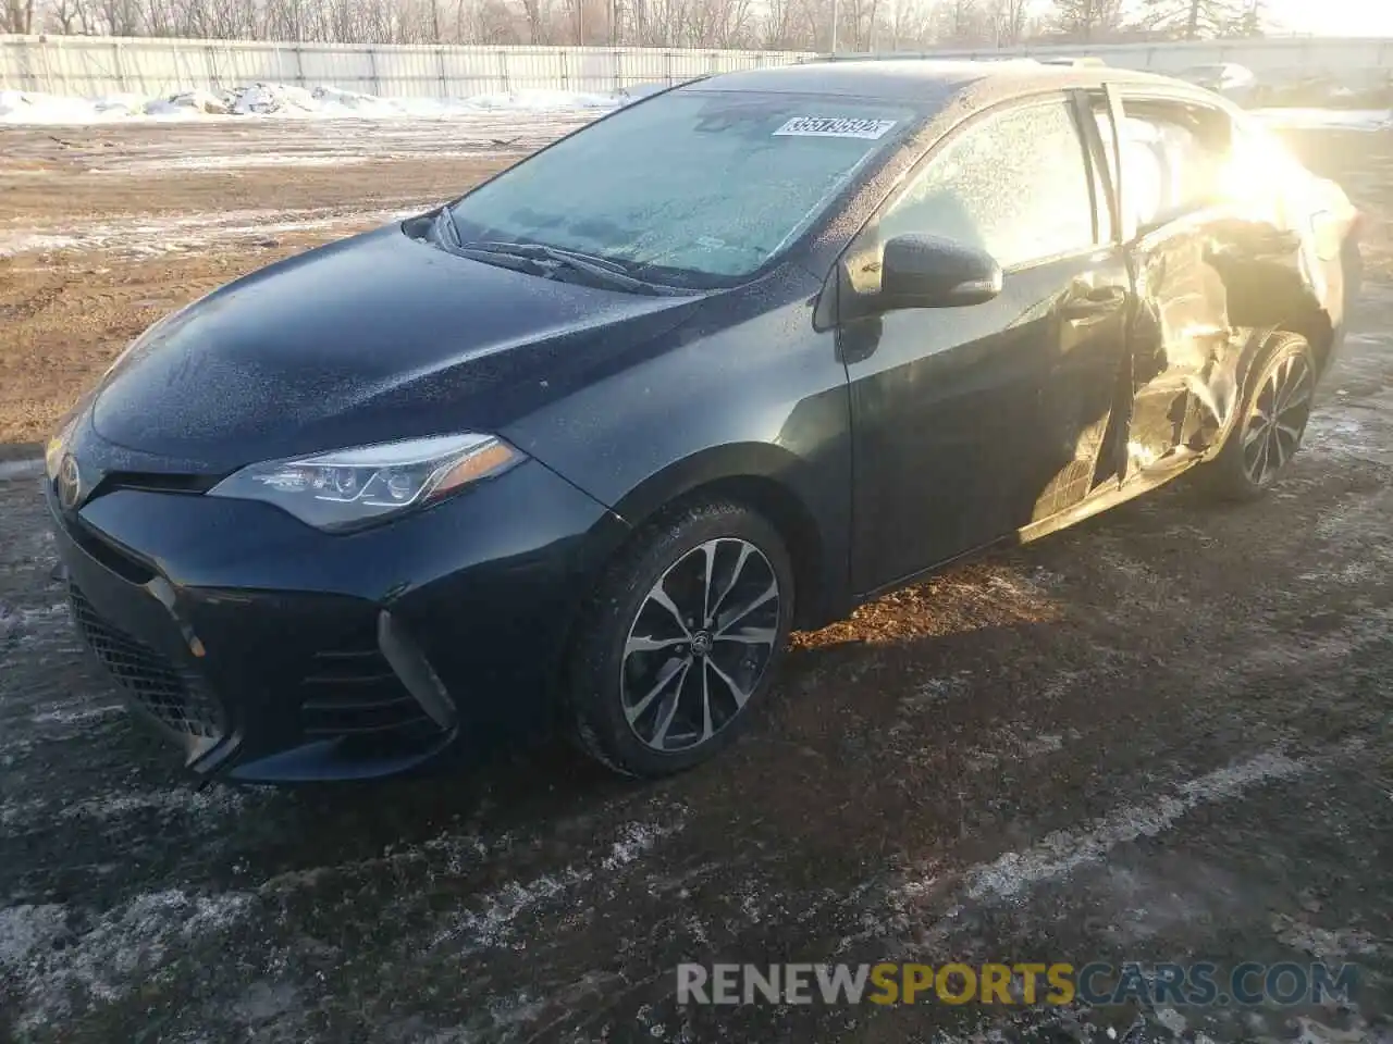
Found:
[[[312,671],[301,682],[305,736],[428,739],[439,735],[436,724],[366,633],[361,642],[315,653]]]

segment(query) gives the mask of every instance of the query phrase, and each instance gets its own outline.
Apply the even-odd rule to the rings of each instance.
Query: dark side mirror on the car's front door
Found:
[[[880,310],[981,305],[1002,292],[1002,266],[985,251],[937,235],[897,235],[880,262]]]

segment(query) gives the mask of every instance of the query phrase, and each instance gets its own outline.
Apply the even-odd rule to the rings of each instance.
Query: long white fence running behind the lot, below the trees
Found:
[[[1393,40],[1383,39],[933,52],[935,57],[979,58],[1031,54],[1091,54],[1123,68],[1158,72],[1237,63],[1254,70],[1259,79],[1290,82],[1321,77],[1350,86],[1387,82],[1393,75]],[[301,86],[332,84],[394,97],[468,97],[524,88],[600,92],[635,84],[674,84],[708,72],[783,65],[809,57],[814,56],[798,52],[659,47],[454,47],[0,36],[0,89],[153,96],[192,88],[279,82]]]

